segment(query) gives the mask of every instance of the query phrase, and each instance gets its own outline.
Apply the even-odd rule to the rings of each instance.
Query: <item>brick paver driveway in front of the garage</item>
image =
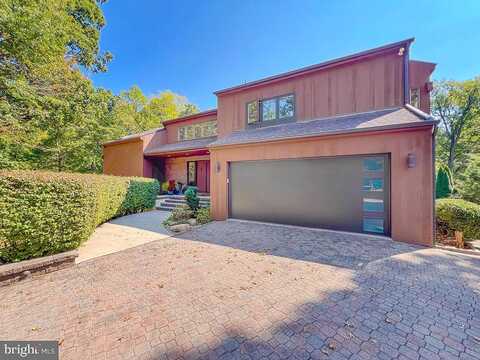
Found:
[[[480,258],[218,222],[0,288],[61,358],[480,359]]]

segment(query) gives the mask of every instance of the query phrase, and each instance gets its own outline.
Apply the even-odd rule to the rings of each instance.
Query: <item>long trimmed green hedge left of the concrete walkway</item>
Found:
[[[153,208],[159,188],[147,178],[0,171],[0,259],[75,249],[105,221]]]

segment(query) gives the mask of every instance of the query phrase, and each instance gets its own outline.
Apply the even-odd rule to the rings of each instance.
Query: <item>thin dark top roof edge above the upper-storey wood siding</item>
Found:
[[[343,65],[343,64],[348,63],[348,62],[352,62],[352,61],[356,61],[356,60],[359,60],[359,59],[362,59],[362,58],[374,56],[374,55],[377,55],[377,54],[380,54],[380,53],[383,53],[383,52],[386,52],[386,51],[389,51],[389,50],[392,50],[392,49],[395,49],[395,48],[398,48],[398,47],[401,47],[401,46],[408,48],[414,40],[415,40],[415,38],[405,39],[405,40],[398,41],[398,42],[395,42],[395,43],[380,46],[380,47],[377,47],[377,48],[374,48],[374,49],[370,49],[370,50],[362,51],[362,52],[355,53],[355,54],[352,54],[352,55],[340,57],[340,58],[337,58],[337,59],[321,62],[319,64],[303,67],[303,68],[293,70],[293,71],[288,71],[288,72],[285,72],[285,73],[282,73],[282,74],[266,77],[266,78],[263,78],[263,79],[260,79],[260,80],[251,81],[251,82],[248,82],[248,83],[245,83],[245,84],[242,84],[242,85],[237,85],[237,86],[233,86],[233,87],[226,88],[226,89],[223,89],[223,90],[218,90],[214,94],[215,95],[224,95],[224,94],[233,93],[233,92],[241,91],[241,90],[252,88],[252,87],[257,87],[257,86],[266,85],[266,84],[270,84],[270,83],[281,81],[281,80],[286,80],[286,79],[289,79],[289,78],[292,78],[292,77],[305,75],[305,74],[315,72],[315,71],[318,71],[318,70],[321,70],[321,69],[325,69],[325,68],[328,68],[328,67],[339,66],[339,65]]]

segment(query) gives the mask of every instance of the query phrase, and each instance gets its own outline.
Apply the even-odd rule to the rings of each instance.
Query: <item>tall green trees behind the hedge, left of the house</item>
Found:
[[[86,78],[112,57],[99,51],[104,2],[0,0],[0,169],[99,173],[103,142],[197,111],[171,91],[115,96]]]

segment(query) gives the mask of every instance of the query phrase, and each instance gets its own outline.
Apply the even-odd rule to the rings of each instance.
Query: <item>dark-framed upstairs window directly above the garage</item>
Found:
[[[282,95],[247,103],[247,124],[288,121],[295,118],[295,96]]]

